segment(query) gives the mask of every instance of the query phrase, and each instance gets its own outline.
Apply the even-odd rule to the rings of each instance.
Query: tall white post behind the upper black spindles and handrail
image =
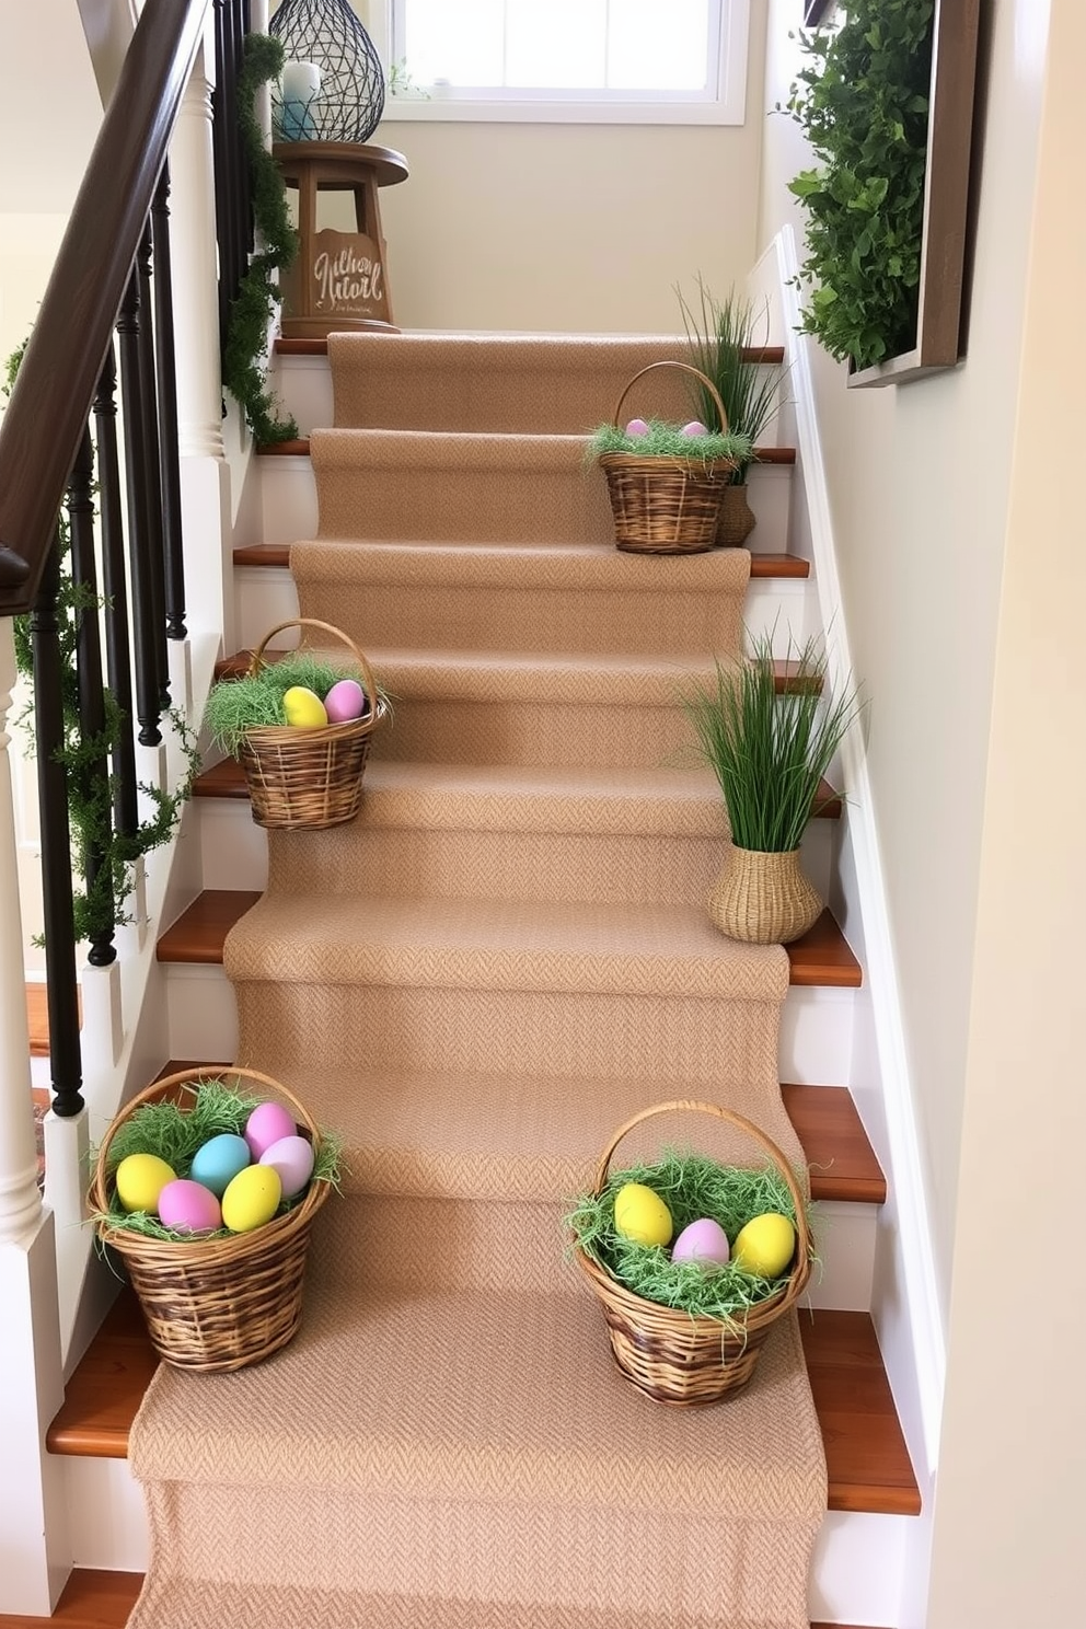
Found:
[[[223,458],[218,358],[218,248],[212,90],[212,11],[169,143],[177,448],[186,534],[189,630],[233,640],[230,471]]]

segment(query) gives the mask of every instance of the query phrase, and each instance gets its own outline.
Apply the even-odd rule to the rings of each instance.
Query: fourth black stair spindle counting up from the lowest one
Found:
[[[135,650],[135,714],[140,743],[158,746],[161,699],[155,660],[155,603],[150,586],[150,497],[143,456],[143,383],[140,368],[140,275],[132,267],[117,318],[120,344],[120,399],[124,404],[125,477],[129,495],[129,562],[132,570],[132,640]]]

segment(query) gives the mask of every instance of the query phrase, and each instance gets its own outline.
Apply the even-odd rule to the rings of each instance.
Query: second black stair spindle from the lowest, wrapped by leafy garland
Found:
[[[80,704],[81,741],[101,743],[101,751],[72,771],[83,806],[101,806],[101,828],[81,842],[83,881],[88,899],[98,902],[101,925],[90,938],[88,961],[107,968],[117,959],[114,946],[116,914],[112,878],[109,875],[109,757],[106,753],[106,699],[103,692],[103,652],[98,627],[98,567],[94,564],[94,450],[91,432],[85,430],[68,481],[68,528],[72,538],[72,582],[80,590],[81,604],[75,611],[75,679]]]

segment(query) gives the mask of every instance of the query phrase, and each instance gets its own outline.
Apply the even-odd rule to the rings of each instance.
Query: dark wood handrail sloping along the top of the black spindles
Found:
[[[0,425],[0,616],[28,611],[210,0],[147,5]]]

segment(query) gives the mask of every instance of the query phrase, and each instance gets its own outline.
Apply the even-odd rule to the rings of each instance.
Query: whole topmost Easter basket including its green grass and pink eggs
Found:
[[[637,381],[655,368],[697,376],[720,414],[720,433],[703,424],[664,424],[620,414]],[[591,451],[607,477],[615,546],[637,554],[697,554],[712,549],[725,489],[733,469],[751,454],[744,435],[728,433],[728,414],[710,378],[685,362],[650,362],[619,396],[609,424],[599,425]]]

